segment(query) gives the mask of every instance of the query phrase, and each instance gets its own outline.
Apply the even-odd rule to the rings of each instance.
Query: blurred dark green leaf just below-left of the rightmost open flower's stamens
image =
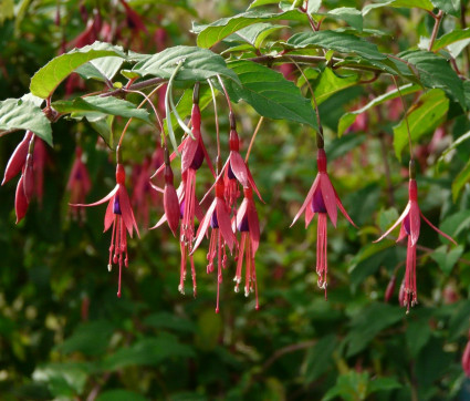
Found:
[[[405,316],[403,309],[387,304],[373,302],[363,308],[353,319],[352,329],[345,338],[346,357],[355,356],[384,329],[395,325]]]

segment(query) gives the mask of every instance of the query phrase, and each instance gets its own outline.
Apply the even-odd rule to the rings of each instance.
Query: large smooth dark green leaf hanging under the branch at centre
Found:
[[[316,128],[315,112],[310,101],[281,73],[251,61],[234,61],[229,63],[229,68],[241,82],[241,85],[227,85],[233,102],[242,100],[265,117],[290,120]]]

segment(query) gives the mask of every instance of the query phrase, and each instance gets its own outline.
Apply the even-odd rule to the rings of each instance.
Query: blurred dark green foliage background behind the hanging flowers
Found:
[[[118,1],[0,2],[0,99],[28,93],[33,73],[59,54],[63,43],[73,44],[93,20],[93,10],[121,29],[117,43],[152,53],[161,45],[194,45],[191,21],[211,22],[248,7],[243,1],[209,0],[128,3],[143,16],[148,34],[133,30]],[[325,9],[364,6],[354,0],[323,3]],[[383,8],[366,19],[367,28],[387,33],[373,38],[380,50],[394,53],[416,47],[420,35],[429,37],[432,22],[417,9]],[[460,23],[449,16],[441,33]],[[165,32],[163,42],[156,39],[158,30]],[[54,124],[55,146],[48,148],[42,205],[33,202],[15,226],[17,181],[0,189],[0,399],[320,400],[325,394],[344,400],[470,399],[470,380],[460,364],[470,313],[470,188],[467,185],[456,203],[450,192],[470,157],[470,146],[459,146],[452,157],[438,162],[450,142],[470,131],[470,123],[466,114],[456,117],[450,109],[439,145],[427,147],[432,132],[416,144],[421,152],[421,209],[455,236],[459,247],[449,250],[422,225],[419,243],[429,249],[418,250],[420,304],[406,315],[398,306],[406,247],[390,239],[372,244],[407,202],[408,156],[399,162],[393,152],[393,126],[399,120],[389,117],[390,109],[401,105],[372,109],[364,126],[353,126],[341,138],[335,134],[341,115],[390,84],[384,78],[353,85],[320,107],[328,172],[361,227],[356,230],[342,216],[337,229],[328,226],[327,301],[316,286],[316,225],[307,230],[302,223],[288,228],[316,174],[314,132],[264,120],[250,156],[267,202],[257,203],[262,230],[257,255],[259,311],[253,297],[233,292],[231,261],[223,273],[221,312],[215,313],[217,286],[215,274],[206,274],[207,240],[195,255],[198,297],[192,298],[188,282],[187,295],[181,296],[177,240],[167,227],[148,232],[143,220],[142,239],[129,241],[129,268],[118,299],[117,271],[106,268],[111,233],[102,233],[105,206],[87,209],[84,223],[73,220],[65,192],[76,143],[84,150],[93,183],[88,202],[114,186],[114,153],[97,144],[98,135],[85,122],[62,119]],[[102,88],[86,85],[88,91]],[[72,96],[80,93],[75,88]],[[65,84],[54,100],[64,95]],[[416,97],[406,101],[411,104]],[[218,104],[227,156],[228,112],[221,96]],[[244,153],[259,117],[244,104],[234,107]],[[202,116],[213,157],[213,109],[208,106]],[[1,137],[1,168],[22,135]],[[153,154],[157,141],[157,133],[147,126],[130,126],[124,144],[128,175]],[[210,185],[207,167],[200,174],[198,196]],[[150,224],[161,214],[159,198],[152,204]],[[386,304],[384,292],[394,273],[397,285]]]

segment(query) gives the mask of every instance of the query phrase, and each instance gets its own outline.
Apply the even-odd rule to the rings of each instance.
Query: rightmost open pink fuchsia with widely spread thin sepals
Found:
[[[410,171],[412,171],[410,164]],[[414,173],[411,174],[414,176]],[[406,256],[406,271],[405,271],[405,299],[404,306],[407,307],[407,312],[409,311],[409,307],[414,307],[418,304],[418,292],[416,287],[416,245],[419,238],[419,228],[420,228],[420,219],[422,218],[434,230],[439,233],[441,236],[446,237],[450,241],[457,245],[457,243],[447,234],[442,233],[439,228],[435,227],[431,222],[429,222],[422,212],[419,209],[418,205],[418,186],[416,184],[415,178],[409,179],[408,186],[409,200],[401,216],[395,224],[384,233],[384,235],[376,239],[374,243],[378,243],[384,239],[388,234],[390,234],[399,224],[400,234],[398,236],[397,243],[405,237],[408,237],[408,248]]]

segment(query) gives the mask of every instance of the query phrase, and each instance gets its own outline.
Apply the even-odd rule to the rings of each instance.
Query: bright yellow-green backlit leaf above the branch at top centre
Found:
[[[198,33],[198,47],[208,49],[244,27],[258,22],[281,20],[306,21],[306,17],[297,10],[285,12],[252,10],[234,17],[222,18],[208,25],[194,25],[192,31]]]

